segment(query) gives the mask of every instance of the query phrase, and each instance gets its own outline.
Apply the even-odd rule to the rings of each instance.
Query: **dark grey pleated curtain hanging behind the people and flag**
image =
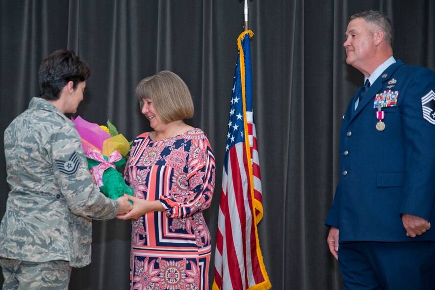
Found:
[[[264,206],[258,232],[272,289],[340,289],[323,223],[338,180],[340,121],[363,80],[345,63],[346,23],[362,10],[386,12],[395,26],[394,56],[434,70],[435,2],[250,0],[249,5]],[[57,49],[75,50],[92,69],[77,115],[99,124],[109,118],[128,139],[150,130],[134,96],[136,83],[161,70],[185,80],[195,104],[188,123],[208,134],[220,168],[212,206],[205,211],[214,242],[243,2],[2,0],[0,25],[1,135],[39,95],[39,64]],[[8,193],[3,150],[0,167],[2,216]],[[128,289],[129,222],[93,225],[92,264],[73,269],[70,289]]]

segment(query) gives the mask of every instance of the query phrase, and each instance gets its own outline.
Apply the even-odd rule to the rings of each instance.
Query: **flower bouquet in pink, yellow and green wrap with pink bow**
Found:
[[[107,127],[85,121],[80,116],[71,120],[76,124],[88,168],[101,192],[111,199],[117,199],[124,193],[132,196],[133,189],[126,185],[122,174],[117,171],[126,164],[130,150],[127,139],[118,133],[109,120]]]

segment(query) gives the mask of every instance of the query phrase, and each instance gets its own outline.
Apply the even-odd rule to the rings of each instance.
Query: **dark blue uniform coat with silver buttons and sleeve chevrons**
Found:
[[[435,73],[398,60],[370,86],[354,109],[359,88],[340,130],[340,178],[325,224],[339,242],[435,240]],[[382,108],[375,96],[397,91],[397,104]],[[432,228],[407,237],[402,214],[425,218]]]

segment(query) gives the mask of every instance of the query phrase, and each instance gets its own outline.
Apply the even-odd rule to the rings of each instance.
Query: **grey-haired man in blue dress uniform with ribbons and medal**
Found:
[[[353,15],[346,62],[364,75],[340,131],[326,219],[344,289],[435,289],[435,73],[393,57],[378,11]]]

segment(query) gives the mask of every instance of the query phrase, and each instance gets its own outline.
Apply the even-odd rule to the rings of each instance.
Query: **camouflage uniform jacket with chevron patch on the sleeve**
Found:
[[[91,219],[111,219],[118,202],[92,183],[74,123],[33,98],[4,132],[10,192],[0,226],[0,257],[91,262]]]

